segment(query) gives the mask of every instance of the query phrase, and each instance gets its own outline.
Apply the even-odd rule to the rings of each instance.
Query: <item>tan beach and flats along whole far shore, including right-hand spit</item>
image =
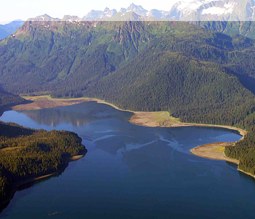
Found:
[[[89,97],[81,97],[81,98],[52,98],[49,95],[44,96],[22,96],[24,99],[32,101],[32,103],[21,104],[14,106],[12,109],[17,111],[23,110],[37,110],[44,108],[54,108],[59,106],[70,106],[74,104],[79,104],[82,102],[97,102],[100,104],[108,105],[114,109],[120,110],[122,112],[130,112],[133,115],[130,117],[129,122],[134,125],[145,126],[145,127],[166,127],[166,128],[178,128],[178,127],[209,127],[209,128],[222,128],[231,131],[236,131],[239,133],[242,141],[247,134],[246,130],[241,128],[237,128],[234,126],[228,125],[214,125],[214,124],[200,124],[200,123],[184,123],[181,122],[180,119],[172,117],[169,112],[160,111],[160,112],[141,112],[141,111],[132,111],[121,109],[120,107],[109,103],[107,101],[98,99],[98,98],[89,98]],[[237,142],[239,142],[237,141]],[[206,145],[200,145],[195,148],[192,148],[190,152],[195,155],[206,159],[213,160],[222,160],[231,162],[234,164],[239,164],[238,160],[229,158],[225,155],[224,150],[225,147],[234,147],[236,142],[215,142]],[[238,169],[239,170],[239,169]],[[245,171],[239,170],[247,175],[252,174],[246,173]]]

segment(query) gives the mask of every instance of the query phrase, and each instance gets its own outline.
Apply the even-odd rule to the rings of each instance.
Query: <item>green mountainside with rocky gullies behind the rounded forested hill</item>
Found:
[[[62,95],[81,96],[145,49],[156,49],[224,66],[254,92],[254,48],[251,39],[183,22],[27,22],[0,43],[0,83],[16,93],[64,87]]]

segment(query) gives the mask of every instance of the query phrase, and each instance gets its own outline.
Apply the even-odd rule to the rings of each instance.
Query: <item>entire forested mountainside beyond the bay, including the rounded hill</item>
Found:
[[[240,168],[250,171],[255,162],[243,146],[254,153],[254,23],[200,25],[29,21],[0,42],[0,83],[17,94],[98,97],[245,128],[245,140],[227,153],[245,157]]]

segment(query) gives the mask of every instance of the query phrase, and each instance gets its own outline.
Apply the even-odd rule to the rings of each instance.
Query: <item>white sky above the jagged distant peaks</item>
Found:
[[[146,9],[170,10],[177,0],[0,0],[0,23],[26,20],[42,14],[58,18],[66,14],[83,17],[91,9],[120,9],[128,7],[132,2]]]

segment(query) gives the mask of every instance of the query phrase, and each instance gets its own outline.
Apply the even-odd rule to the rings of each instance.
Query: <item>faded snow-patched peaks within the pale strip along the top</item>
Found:
[[[30,20],[36,21],[253,21],[255,20],[254,0],[182,0],[169,10],[146,10],[141,5],[131,4],[127,8],[105,8],[92,10],[83,18],[64,16],[63,19],[48,15]]]

